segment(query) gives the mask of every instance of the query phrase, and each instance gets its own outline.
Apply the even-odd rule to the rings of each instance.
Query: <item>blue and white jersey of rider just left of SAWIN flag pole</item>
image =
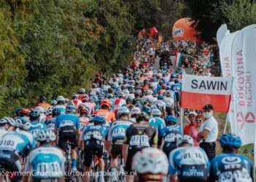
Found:
[[[177,138],[183,135],[182,128],[180,126],[164,127],[160,133],[165,143],[176,143]]]

